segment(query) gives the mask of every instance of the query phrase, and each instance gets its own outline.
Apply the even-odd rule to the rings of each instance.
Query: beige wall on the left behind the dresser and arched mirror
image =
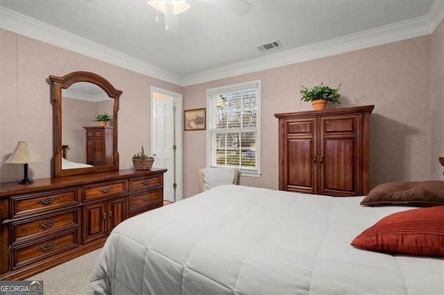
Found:
[[[123,91],[119,109],[119,166],[132,168],[131,157],[149,152],[150,87],[182,92],[182,87],[79,55],[35,39],[0,30],[0,181],[23,178],[23,166],[6,164],[17,141],[28,141],[44,160],[29,166],[30,178],[51,177],[53,107],[49,75],[91,71]]]

